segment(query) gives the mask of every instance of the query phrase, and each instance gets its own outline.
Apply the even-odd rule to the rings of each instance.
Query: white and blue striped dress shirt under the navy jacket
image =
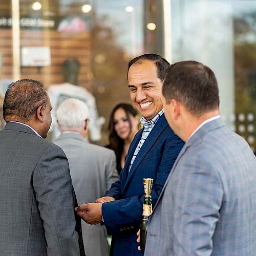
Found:
[[[129,167],[129,173],[130,170],[132,168],[133,162],[136,158],[136,156],[138,155],[140,148],[142,147],[142,145],[144,144],[146,138],[148,137],[148,135],[150,135],[150,132],[152,131],[153,127],[155,126],[155,124],[157,123],[158,119],[160,118],[160,116],[164,113],[163,109],[151,120],[146,120],[144,117],[141,117],[140,122],[143,124],[144,126],[144,130],[142,132],[142,136],[141,139],[136,147],[136,150],[134,151],[131,163],[130,163],[130,167]]]

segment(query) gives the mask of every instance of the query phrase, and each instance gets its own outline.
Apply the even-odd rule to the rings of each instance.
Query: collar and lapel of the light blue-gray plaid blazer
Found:
[[[205,125],[203,125],[186,143],[185,145],[183,146],[182,150],[180,151],[180,154],[178,155],[177,159],[175,160],[175,163],[173,165],[173,168],[172,170],[170,171],[165,183],[164,183],[164,186],[162,188],[162,191],[161,191],[161,194],[153,208],[153,211],[155,210],[158,202],[160,201],[162,195],[163,195],[163,192],[164,192],[164,189],[166,187],[166,185],[168,184],[168,181],[170,180],[170,178],[172,177],[173,173],[174,173],[174,170],[180,160],[180,158],[185,154],[186,150],[188,149],[188,147],[190,147],[191,145],[193,145],[194,143],[196,143],[198,140],[202,139],[203,136],[208,133],[209,131],[212,131],[212,130],[215,130],[215,129],[218,129],[219,127],[222,127],[222,126],[225,126],[225,123],[221,120],[221,118],[218,118],[218,119],[215,119],[213,121],[210,121],[208,123],[206,123]]]

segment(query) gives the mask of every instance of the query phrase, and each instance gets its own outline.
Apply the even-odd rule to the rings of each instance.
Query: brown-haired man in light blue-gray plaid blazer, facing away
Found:
[[[186,143],[155,205],[144,255],[256,255],[256,158],[219,116],[214,73],[170,66],[164,115]]]

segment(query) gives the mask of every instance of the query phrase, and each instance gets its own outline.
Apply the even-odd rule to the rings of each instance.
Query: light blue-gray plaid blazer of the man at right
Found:
[[[256,255],[256,158],[221,119],[184,145],[156,203],[144,255]]]

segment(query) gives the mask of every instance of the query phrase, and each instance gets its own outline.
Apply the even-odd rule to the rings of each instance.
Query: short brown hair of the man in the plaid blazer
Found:
[[[215,110],[220,103],[214,72],[192,60],[177,62],[166,70],[163,96],[167,103],[180,101],[193,115]]]

